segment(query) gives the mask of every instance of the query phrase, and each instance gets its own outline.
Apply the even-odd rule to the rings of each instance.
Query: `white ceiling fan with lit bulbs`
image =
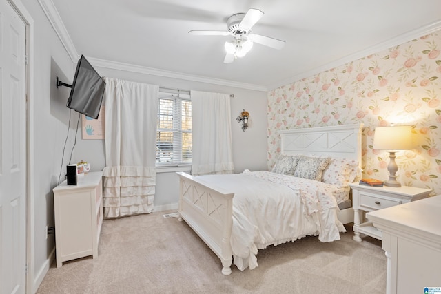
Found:
[[[251,50],[253,43],[259,43],[271,48],[281,49],[285,41],[263,36],[261,34],[252,34],[251,29],[260,18],[263,12],[256,8],[249,8],[247,13],[236,13],[227,19],[226,31],[218,30],[191,30],[188,33],[198,36],[234,36],[233,41],[225,42],[224,63],[232,63],[237,57],[243,57]]]

